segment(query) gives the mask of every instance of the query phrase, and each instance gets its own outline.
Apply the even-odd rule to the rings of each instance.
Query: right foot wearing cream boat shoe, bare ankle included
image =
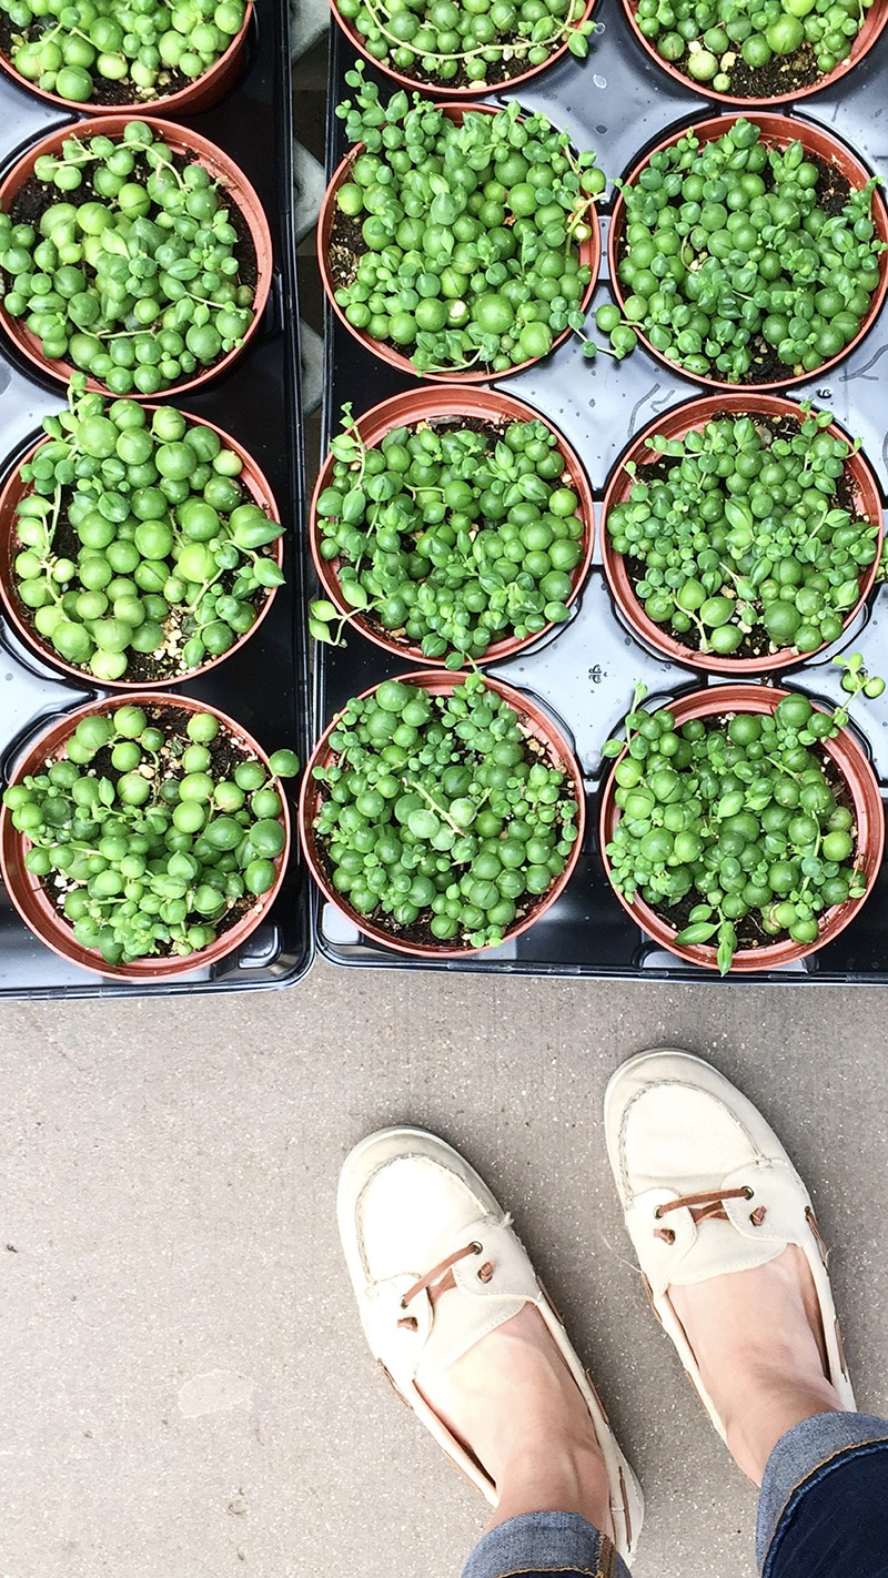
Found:
[[[689,1053],[629,1059],[604,1120],[651,1305],[760,1483],[787,1430],[853,1408],[804,1184],[752,1103]]]

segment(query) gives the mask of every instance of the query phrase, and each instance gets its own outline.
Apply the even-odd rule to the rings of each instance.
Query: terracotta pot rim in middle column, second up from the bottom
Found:
[[[584,535],[580,540],[582,559],[571,574],[573,601],[587,574],[591,563],[591,549],[595,544],[595,502],[591,497],[591,488],[588,484],[588,477],[582,467],[579,456],[571,450],[566,439],[562,437],[558,429],[539,412],[525,406],[522,401],[514,399],[511,394],[502,394],[498,390],[450,390],[431,388],[431,390],[412,390],[407,394],[396,394],[393,399],[383,401],[380,406],[374,406],[363,417],[358,418],[356,431],[361,436],[368,448],[375,448],[382,443],[386,432],[393,428],[415,426],[420,421],[435,421],[435,420],[453,420],[454,417],[475,417],[481,421],[495,423],[506,417],[509,421],[543,421],[550,432],[555,434],[558,440],[558,450],[562,451],[565,461],[565,470],[569,477],[569,486],[579,495],[579,514],[584,522]],[[309,510],[309,546],[311,555],[314,559],[314,568],[317,579],[323,589],[323,595],[336,604],[341,614],[352,615],[352,626],[360,630],[361,636],[368,641],[375,642],[383,652],[393,652],[401,658],[415,658],[418,663],[426,663],[423,650],[412,641],[404,638],[396,638],[388,634],[382,625],[375,623],[363,614],[355,617],[355,611],[342,596],[342,587],[339,582],[339,560],[338,559],[322,559],[320,555],[320,529],[317,516],[317,500],[320,499],[325,488],[330,486],[333,478],[333,469],[336,464],[334,454],[328,453],[320,475],[317,478],[311,510]],[[0,499],[0,525],[2,525],[2,499]],[[517,636],[508,636],[502,641],[494,641],[481,663],[495,663],[500,658],[511,656],[516,652],[522,652],[525,647],[533,645],[533,642],[541,641],[552,625],[546,625],[543,630],[535,631],[530,636],[519,639]]]

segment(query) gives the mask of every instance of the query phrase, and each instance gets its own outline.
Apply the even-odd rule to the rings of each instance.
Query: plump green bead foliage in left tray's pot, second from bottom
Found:
[[[17,598],[58,656],[98,680],[126,679],[134,653],[188,674],[233,647],[284,581],[265,551],[282,527],[213,428],[84,383],[76,374],[68,410],[44,420],[46,443],[19,467]],[[57,546],[62,525],[74,555]]]

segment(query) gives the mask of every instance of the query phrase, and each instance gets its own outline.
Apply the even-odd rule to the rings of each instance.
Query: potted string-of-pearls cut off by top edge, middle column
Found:
[[[481,9],[454,0],[330,0],[345,38],[404,87],[491,93],[517,87],[566,50],[588,55],[595,0],[495,0]]]

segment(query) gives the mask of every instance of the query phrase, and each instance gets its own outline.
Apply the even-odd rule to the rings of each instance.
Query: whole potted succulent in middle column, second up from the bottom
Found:
[[[311,503],[323,596],[312,633],[345,622],[399,656],[494,661],[569,617],[595,505],[560,432],[497,390],[416,390],[345,413]]]

